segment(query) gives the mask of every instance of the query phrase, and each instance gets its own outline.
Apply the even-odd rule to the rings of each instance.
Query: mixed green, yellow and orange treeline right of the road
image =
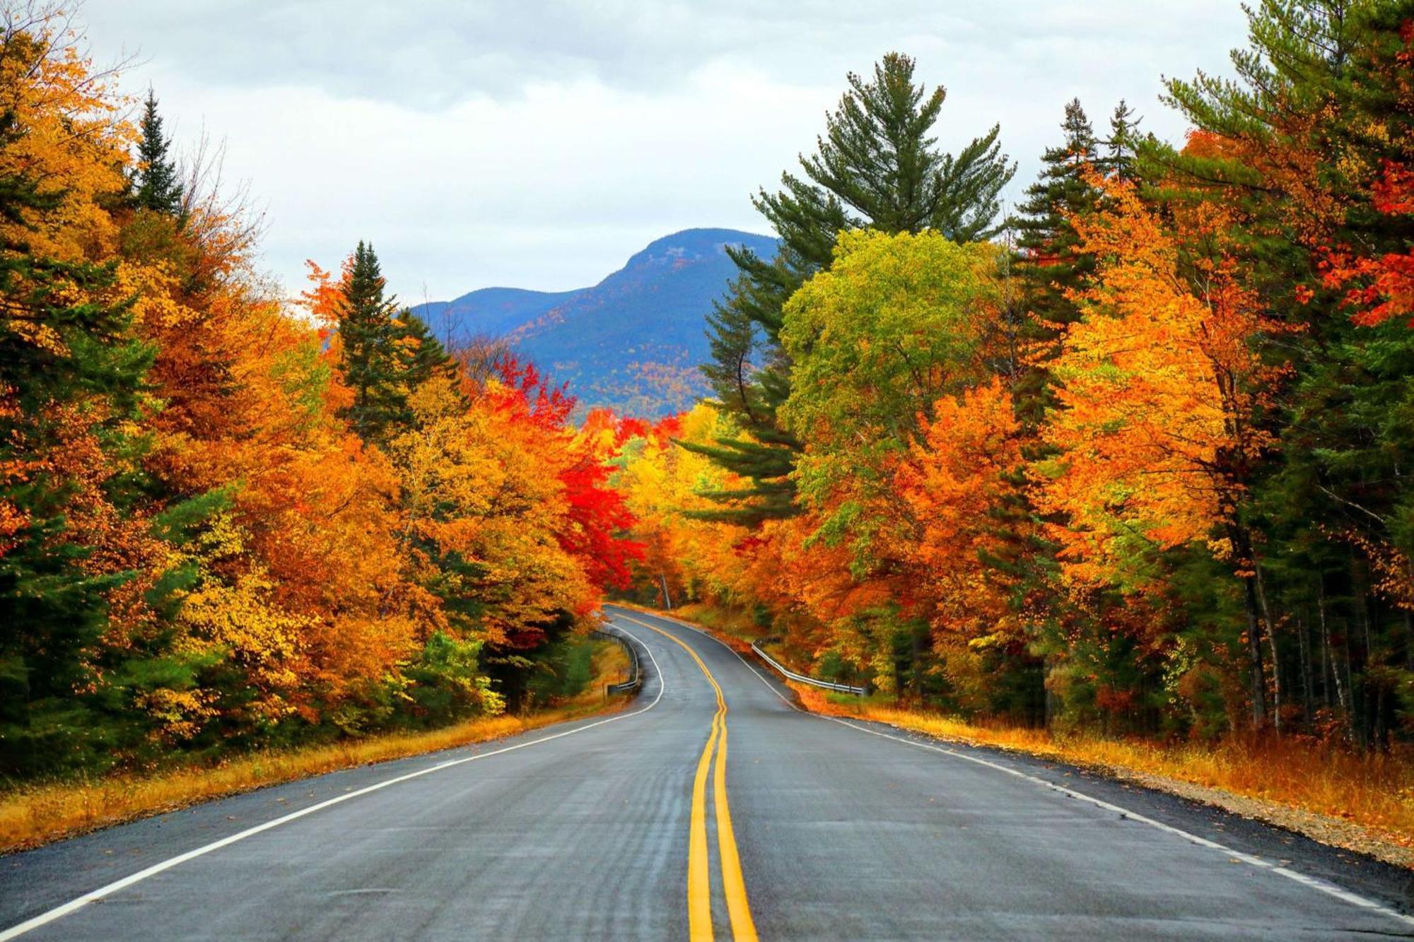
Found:
[[[973,717],[1406,735],[1414,3],[1249,16],[1182,147],[1072,102],[1011,214],[997,129],[942,153],[911,59],[851,75],[715,402],[625,451],[641,595]]]

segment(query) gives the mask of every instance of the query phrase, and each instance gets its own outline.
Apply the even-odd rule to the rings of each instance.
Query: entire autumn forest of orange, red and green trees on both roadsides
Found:
[[[850,75],[652,426],[368,243],[281,297],[69,30],[0,37],[0,775],[526,709],[605,591],[973,719],[1408,735],[1414,1],[1261,3],[1182,146],[1072,102],[1015,207],[1000,127]]]

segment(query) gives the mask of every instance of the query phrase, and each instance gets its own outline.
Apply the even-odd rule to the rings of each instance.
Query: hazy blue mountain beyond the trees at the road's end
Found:
[[[773,257],[776,240],[737,229],[684,229],[650,242],[592,287],[489,287],[414,310],[451,342],[505,339],[585,406],[639,416],[676,412],[706,392],[697,365],[713,301],[737,266],[725,246]]]

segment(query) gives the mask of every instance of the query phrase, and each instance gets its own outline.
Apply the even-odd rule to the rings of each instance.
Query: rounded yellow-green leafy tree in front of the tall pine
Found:
[[[834,264],[786,304],[781,341],[792,395],[782,407],[802,441],[796,477],[807,506],[840,536],[871,526],[861,499],[880,495],[933,403],[981,375],[995,315],[997,252],[940,233],[841,235]]]

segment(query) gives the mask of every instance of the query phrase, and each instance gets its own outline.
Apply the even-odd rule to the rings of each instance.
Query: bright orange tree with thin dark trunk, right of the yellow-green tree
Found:
[[[1271,446],[1258,413],[1278,373],[1254,352],[1274,330],[1230,259],[1188,256],[1133,185],[1109,185],[1109,212],[1076,219],[1097,259],[1053,362],[1058,409],[1042,436],[1058,455],[1038,504],[1079,583],[1143,591],[1148,557],[1206,543],[1246,586],[1253,721],[1266,714],[1256,543],[1241,512]],[[1223,225],[1213,226],[1220,232]],[[1185,269],[1193,266],[1191,286]]]

